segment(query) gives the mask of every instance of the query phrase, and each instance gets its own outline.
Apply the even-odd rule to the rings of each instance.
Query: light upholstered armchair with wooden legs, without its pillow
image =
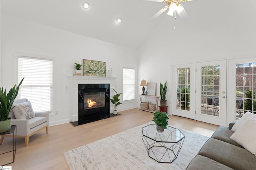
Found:
[[[28,99],[17,99],[14,100],[14,104],[20,104],[27,102]],[[40,130],[46,128],[48,134],[49,127],[49,113],[46,112],[35,112],[36,117],[30,119],[16,119],[14,112],[11,111],[9,117],[11,117],[11,124],[16,125],[17,137],[24,137],[25,144],[28,146],[29,137],[34,135]],[[3,143],[4,137],[12,137],[12,135],[2,135],[0,139],[0,145]]]

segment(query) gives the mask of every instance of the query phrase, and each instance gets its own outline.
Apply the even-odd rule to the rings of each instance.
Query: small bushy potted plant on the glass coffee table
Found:
[[[156,123],[156,130],[158,132],[164,132],[164,129],[166,129],[168,125],[168,114],[162,111],[156,111],[154,113],[153,120]]]

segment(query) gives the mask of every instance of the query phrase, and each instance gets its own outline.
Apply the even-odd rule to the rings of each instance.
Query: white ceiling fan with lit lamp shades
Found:
[[[167,12],[167,15],[173,16],[178,13],[181,19],[185,19],[188,17],[188,14],[186,13],[184,7],[180,4],[180,2],[189,2],[192,0],[146,0],[146,1],[154,1],[154,2],[165,2],[167,6],[162,8],[160,11],[158,11],[154,16],[151,17],[151,20],[154,20],[158,16],[160,16],[162,13],[164,13],[166,10],[169,9]]]

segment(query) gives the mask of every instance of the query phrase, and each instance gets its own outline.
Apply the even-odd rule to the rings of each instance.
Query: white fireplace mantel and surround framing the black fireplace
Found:
[[[110,84],[110,89],[116,88],[116,77],[69,76],[71,79],[71,121],[78,121],[78,84]],[[112,96],[112,90],[110,90]],[[114,107],[110,107],[110,111]]]

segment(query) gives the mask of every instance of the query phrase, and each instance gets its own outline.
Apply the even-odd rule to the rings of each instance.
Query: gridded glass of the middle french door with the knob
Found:
[[[201,113],[219,117],[220,65],[202,66]]]

